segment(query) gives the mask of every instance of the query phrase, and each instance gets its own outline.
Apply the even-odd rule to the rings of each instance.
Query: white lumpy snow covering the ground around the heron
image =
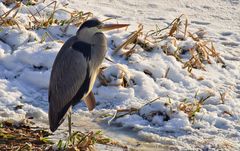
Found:
[[[0,1],[0,15],[14,7],[5,6],[2,1],[4,0]],[[28,10],[34,14],[36,8],[40,10],[50,2],[39,2],[35,6],[22,5],[16,16],[21,30],[17,26],[0,27],[0,120],[33,117],[37,124],[47,125],[47,92],[51,67],[63,44],[60,40],[65,41],[77,30],[71,26],[62,35],[62,27],[56,25],[38,30],[24,28],[29,25]],[[106,60],[103,66],[107,68],[103,74],[111,80],[113,86],[103,86],[96,81],[93,91],[97,107],[89,113],[84,103],[77,105],[74,109],[76,123],[77,119],[82,122],[82,119],[96,121],[103,113],[114,113],[116,109],[140,108],[160,97],[141,108],[139,114],[126,115],[113,121],[121,127],[130,128],[119,133],[127,134],[131,130],[131,134],[135,135],[128,137],[153,142],[152,148],[158,148],[158,144],[171,146],[176,150],[240,150],[239,0],[60,0],[57,8],[83,10],[92,12],[100,19],[115,18],[109,22],[131,24],[126,31],[106,33],[109,43],[107,57],[115,63]],[[50,6],[41,13],[50,15],[52,9]],[[181,14],[188,16],[190,31],[196,32],[202,28],[207,32],[205,38],[214,42],[226,67],[212,61],[212,64],[205,65],[206,71],[193,69],[195,75],[203,78],[197,80],[182,68],[182,63],[163,53],[160,49],[162,42],[151,52],[137,46],[137,51],[128,60],[118,54],[113,55],[113,42],[115,45],[121,44],[136,30],[139,23],[143,24],[144,31],[147,32],[155,29],[156,24],[160,28],[166,27]],[[67,19],[69,14],[57,11],[55,18]],[[41,43],[45,32],[55,40],[47,38]],[[191,44],[189,39],[178,43],[179,46]],[[128,87],[114,86],[121,82],[118,79],[121,77],[121,70],[124,70],[126,78],[131,81]],[[148,74],[144,73],[146,70]],[[179,106],[184,103],[184,99],[187,99],[187,103],[192,103],[196,93],[197,99],[209,94],[212,96],[203,103],[192,122],[186,113],[180,111]],[[224,102],[220,93],[226,94]],[[20,107],[21,105],[23,106]],[[87,126],[89,129],[90,125]],[[105,123],[101,128],[112,130],[115,126]],[[126,136],[122,137],[123,142],[124,140],[127,140]]]

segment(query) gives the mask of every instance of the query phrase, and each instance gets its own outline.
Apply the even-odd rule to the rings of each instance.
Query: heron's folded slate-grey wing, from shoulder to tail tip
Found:
[[[84,85],[88,74],[88,64],[83,53],[72,48],[76,40],[73,37],[65,42],[53,64],[49,85],[51,131],[55,131],[62,123],[67,110],[73,103],[72,99],[79,89],[82,92],[88,91],[86,90],[88,89],[87,85]]]

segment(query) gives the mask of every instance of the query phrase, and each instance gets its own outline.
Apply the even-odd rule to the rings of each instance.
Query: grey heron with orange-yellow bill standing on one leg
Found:
[[[71,135],[71,108],[80,100],[84,100],[90,111],[94,109],[92,88],[107,51],[107,40],[102,31],[126,26],[128,24],[103,24],[98,19],[90,19],[64,43],[53,63],[49,84],[48,117],[52,132],[70,112]]]

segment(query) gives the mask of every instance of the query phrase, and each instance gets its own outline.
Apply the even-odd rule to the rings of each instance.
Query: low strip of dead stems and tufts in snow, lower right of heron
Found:
[[[165,101],[165,103],[164,103],[165,111],[153,110],[147,114],[145,114],[145,113],[141,114],[140,112],[142,109],[144,109],[147,106],[153,105],[153,103],[155,101],[160,99],[160,97],[157,97],[157,98],[153,99],[152,101],[149,101],[148,103],[144,104],[140,108],[129,108],[129,109],[116,110],[115,114],[112,115],[112,118],[108,121],[108,123],[110,124],[111,122],[115,121],[118,118],[124,117],[126,115],[133,115],[133,114],[137,114],[137,115],[141,116],[143,119],[146,119],[148,121],[151,121],[155,115],[160,115],[160,116],[163,116],[164,121],[168,121],[171,118],[172,114],[175,114],[179,111],[182,111],[185,114],[187,114],[189,121],[194,123],[196,113],[201,112],[201,108],[204,105],[205,101],[212,96],[213,96],[213,94],[209,93],[206,97],[200,97],[200,96],[198,96],[198,94],[196,92],[193,99],[188,100],[187,98],[185,98],[182,101],[180,101],[181,103],[179,103],[177,105],[177,107],[174,107],[171,99],[168,98],[167,101]],[[225,113],[225,114],[228,114],[228,113]]]

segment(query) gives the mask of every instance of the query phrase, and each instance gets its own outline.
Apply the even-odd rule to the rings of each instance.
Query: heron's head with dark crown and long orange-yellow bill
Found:
[[[77,37],[80,39],[86,39],[90,38],[97,32],[109,31],[127,26],[129,26],[129,24],[104,24],[98,19],[93,18],[82,23],[82,25],[77,31]]]

